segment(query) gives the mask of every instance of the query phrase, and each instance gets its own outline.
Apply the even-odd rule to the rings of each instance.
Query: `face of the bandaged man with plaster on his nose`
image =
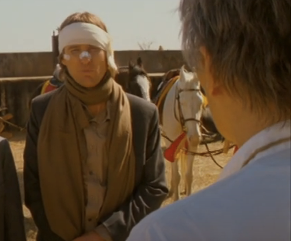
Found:
[[[107,70],[106,52],[92,45],[69,45],[64,48],[64,64],[72,78],[83,87],[99,84]]]

